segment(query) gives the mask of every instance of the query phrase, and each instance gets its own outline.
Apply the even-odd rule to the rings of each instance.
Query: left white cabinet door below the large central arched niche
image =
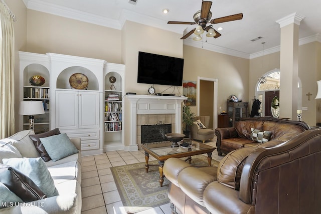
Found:
[[[56,91],[56,126],[58,128],[78,128],[78,102],[78,91]]]

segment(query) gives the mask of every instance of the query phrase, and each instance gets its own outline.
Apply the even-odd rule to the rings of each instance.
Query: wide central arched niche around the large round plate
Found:
[[[87,90],[98,90],[98,80],[96,75],[91,72],[89,69],[81,67],[81,66],[72,66],[69,68],[64,69],[62,72],[60,72],[58,78],[57,78],[57,88],[60,89],[70,89],[70,83],[69,78],[74,73],[81,73],[86,75],[88,78],[88,88]]]

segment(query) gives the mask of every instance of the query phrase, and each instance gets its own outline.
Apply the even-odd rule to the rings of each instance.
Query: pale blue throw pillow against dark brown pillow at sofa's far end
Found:
[[[54,162],[69,155],[78,153],[78,149],[70,141],[66,133],[40,138],[40,141]]]

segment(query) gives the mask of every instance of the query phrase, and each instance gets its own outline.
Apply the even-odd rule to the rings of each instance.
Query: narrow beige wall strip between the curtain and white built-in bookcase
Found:
[[[19,53],[18,51],[25,51],[27,46],[27,9],[21,0],[5,0],[10,10],[17,17],[14,22],[15,32],[15,120],[16,131],[19,131],[20,116],[19,111]]]

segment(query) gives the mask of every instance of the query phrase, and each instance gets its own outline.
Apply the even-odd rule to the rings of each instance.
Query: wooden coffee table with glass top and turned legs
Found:
[[[170,157],[188,157],[186,160],[189,160],[191,163],[193,155],[205,154],[207,153],[208,165],[211,165],[212,162],[212,152],[216,149],[213,146],[206,145],[204,143],[199,143],[193,141],[192,147],[184,148],[184,147],[171,147],[172,142],[166,141],[162,143],[154,143],[154,144],[143,144],[142,148],[145,151],[145,170],[148,172],[149,166],[158,166],[159,169],[159,183],[163,186],[164,182],[164,174],[163,174],[163,166],[165,160]],[[148,164],[149,155],[153,156],[158,160],[158,165]]]

